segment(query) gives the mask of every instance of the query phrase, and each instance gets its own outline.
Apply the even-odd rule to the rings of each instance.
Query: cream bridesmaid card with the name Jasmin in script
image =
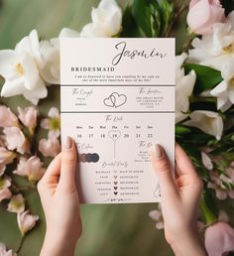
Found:
[[[174,163],[175,40],[61,39],[61,137],[77,145],[81,202],[160,200],[149,151]]]

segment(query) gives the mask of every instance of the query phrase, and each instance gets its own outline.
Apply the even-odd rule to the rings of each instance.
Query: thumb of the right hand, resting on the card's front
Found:
[[[151,161],[158,176],[162,197],[176,193],[176,185],[171,172],[168,156],[162,146],[156,144],[151,151]]]

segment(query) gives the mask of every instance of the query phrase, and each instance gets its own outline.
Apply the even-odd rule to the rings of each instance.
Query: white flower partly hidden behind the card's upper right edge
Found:
[[[187,58],[186,54],[176,57],[176,123],[188,116],[189,96],[193,91],[196,74],[192,70],[184,75],[184,68],[181,65]]]

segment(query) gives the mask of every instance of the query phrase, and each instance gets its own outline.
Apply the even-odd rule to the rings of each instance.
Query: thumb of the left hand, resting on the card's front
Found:
[[[73,140],[66,137],[61,151],[61,166],[59,184],[63,189],[75,188],[77,151]]]

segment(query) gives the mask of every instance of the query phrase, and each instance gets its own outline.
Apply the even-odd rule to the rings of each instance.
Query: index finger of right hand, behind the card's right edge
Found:
[[[192,175],[193,177],[198,178],[196,171],[193,165],[191,164],[191,161],[189,160],[186,153],[178,144],[176,144],[176,165],[177,165],[177,168],[176,168],[177,176],[189,174],[189,175]]]

